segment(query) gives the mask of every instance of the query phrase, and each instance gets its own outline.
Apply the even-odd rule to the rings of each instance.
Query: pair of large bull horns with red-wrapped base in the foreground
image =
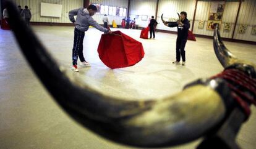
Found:
[[[93,132],[115,142],[137,147],[168,147],[200,137],[206,139],[198,148],[207,147],[212,142],[218,142],[215,145],[226,148],[237,147],[234,139],[246,118],[242,109],[247,107],[240,108],[234,99],[245,99],[240,95],[243,92],[255,99],[255,92],[243,84],[231,86],[236,83],[232,73],[234,71],[252,81],[250,84],[255,87],[256,66],[235,58],[226,49],[218,26],[213,45],[216,56],[225,68],[223,72],[231,74],[230,80],[220,74],[209,79],[199,79],[187,85],[179,94],[163,99],[123,100],[103,95],[86,84],[78,86],[70,81],[22,20],[13,2],[7,1],[7,10],[20,49],[38,78],[72,118]],[[235,114],[236,121],[234,113],[240,113]],[[234,126],[229,125],[230,121]],[[232,128],[228,131],[234,128],[234,137],[230,138],[229,135],[226,138],[218,133],[226,131],[225,127]]]

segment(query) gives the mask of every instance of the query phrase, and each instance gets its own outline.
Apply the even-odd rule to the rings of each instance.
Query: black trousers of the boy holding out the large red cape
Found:
[[[83,57],[83,38],[85,37],[85,32],[79,31],[77,28],[75,28],[74,33],[75,36],[72,49],[72,63],[73,65],[77,65],[77,55],[79,56],[81,62],[85,61],[85,58]]]

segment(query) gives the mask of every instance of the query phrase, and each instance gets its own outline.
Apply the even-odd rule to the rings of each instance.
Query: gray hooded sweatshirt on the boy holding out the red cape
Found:
[[[74,18],[74,15],[77,15],[76,19]],[[98,30],[108,33],[108,29],[103,28],[103,26],[100,26],[95,20],[93,20],[88,10],[83,7],[80,9],[70,10],[69,20],[75,23],[75,28],[79,31],[87,31],[89,26],[92,25]]]

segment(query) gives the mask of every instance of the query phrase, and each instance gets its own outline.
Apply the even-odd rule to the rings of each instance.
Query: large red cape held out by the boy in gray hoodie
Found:
[[[102,34],[98,46],[101,61],[111,69],[135,65],[144,57],[142,43],[121,31]]]

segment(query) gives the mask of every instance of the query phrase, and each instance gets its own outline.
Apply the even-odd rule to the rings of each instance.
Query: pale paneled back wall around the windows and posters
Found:
[[[141,19],[142,15],[156,14],[156,1],[157,0],[130,0],[130,17],[137,18],[136,23],[139,26],[145,27],[148,25],[148,20],[143,21]],[[77,9],[83,6],[83,0],[15,0],[17,5],[24,7],[27,5],[32,12],[32,22],[56,22],[56,23],[70,23],[68,18],[68,12],[72,9]],[[49,2],[53,4],[62,4],[62,17],[41,17],[40,16],[40,2]],[[105,4],[108,6],[125,7],[128,8],[128,0],[91,0],[91,3]],[[202,34],[207,36],[212,36],[213,31],[207,30],[207,20],[210,12],[210,1],[198,1],[197,12],[194,16],[195,0],[160,0],[158,6],[158,16],[156,20],[160,23],[157,28],[160,30],[170,30],[176,31],[176,28],[168,28],[161,23],[161,14],[164,14],[165,20],[175,20],[177,19],[176,12],[186,11],[187,18],[190,20],[192,25],[195,21],[194,33]],[[227,1],[224,6],[224,14],[221,24],[221,36],[224,38],[231,38],[234,23],[236,20],[236,15],[238,11],[239,2],[237,1]],[[242,2],[241,10],[239,12],[239,18],[237,21],[236,30],[234,32],[234,39],[241,39],[245,41],[256,41],[256,36],[252,35],[252,26],[256,25],[256,1],[255,0],[244,0]],[[139,17],[137,17],[139,16]],[[96,14],[93,16],[98,23],[102,23],[103,15]],[[109,23],[115,20],[117,25],[121,25],[121,19],[123,17],[109,16]],[[198,28],[198,21],[203,20],[205,22],[204,28]],[[223,24],[225,22],[231,23],[231,31],[223,31]],[[239,30],[239,25],[247,24],[247,31],[245,34],[237,33]],[[191,28],[190,28],[191,30]]]

